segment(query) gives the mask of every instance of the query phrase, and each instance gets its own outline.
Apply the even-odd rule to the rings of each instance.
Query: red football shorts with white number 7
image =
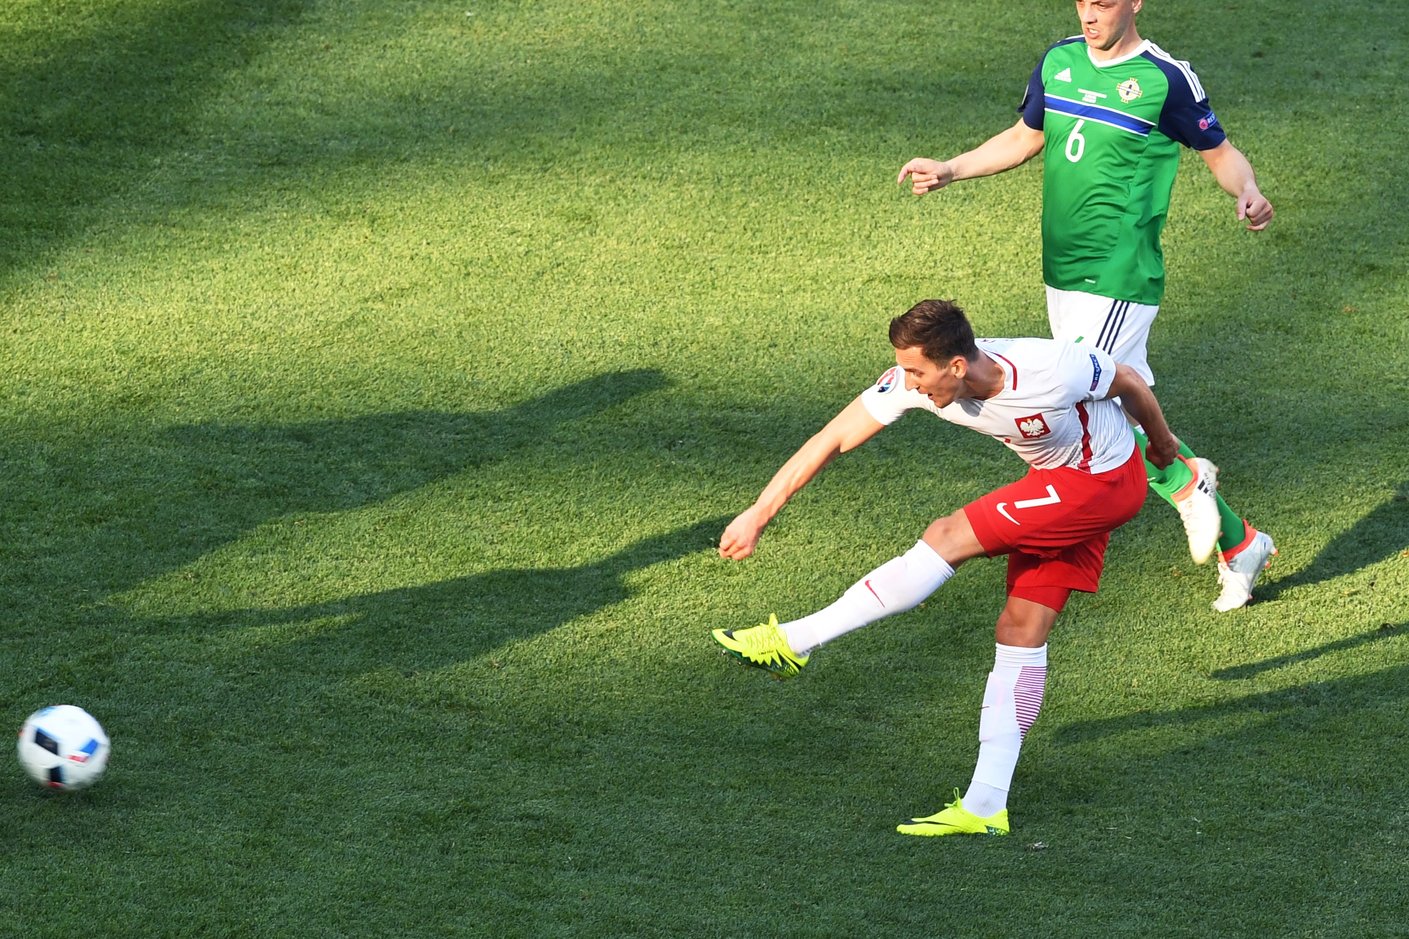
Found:
[[[964,506],[989,557],[1007,556],[1007,595],[1061,610],[1071,591],[1100,582],[1110,533],[1146,499],[1140,450],[1102,474],[1062,467],[1027,475]]]

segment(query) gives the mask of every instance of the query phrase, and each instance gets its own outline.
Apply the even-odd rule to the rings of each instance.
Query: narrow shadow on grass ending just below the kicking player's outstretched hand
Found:
[[[578,567],[526,567],[399,587],[287,609],[242,609],[180,618],[163,629],[259,632],[317,620],[292,642],[252,643],[278,674],[364,673],[395,667],[414,674],[476,658],[551,632],[631,598],[627,575],[662,561],[713,550],[727,517],[712,517],[634,541]]]

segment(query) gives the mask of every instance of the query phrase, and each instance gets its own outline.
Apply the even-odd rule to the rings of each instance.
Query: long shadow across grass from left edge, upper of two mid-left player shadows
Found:
[[[76,450],[0,437],[14,493],[0,572],[11,623],[31,610],[51,623],[106,619],[107,598],[275,519],[373,505],[509,460],[566,468],[586,458],[566,443],[576,424],[665,383],[657,369],[606,372],[497,410],[187,424]],[[85,493],[76,512],[55,515],[45,493],[58,489]]]

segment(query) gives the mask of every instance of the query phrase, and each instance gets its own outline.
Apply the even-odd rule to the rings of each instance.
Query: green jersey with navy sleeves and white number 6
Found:
[[[1143,42],[1098,65],[1072,37],[1043,55],[1019,110],[1044,138],[1043,279],[1160,303],[1160,233],[1179,145],[1208,149],[1224,140],[1189,63]]]

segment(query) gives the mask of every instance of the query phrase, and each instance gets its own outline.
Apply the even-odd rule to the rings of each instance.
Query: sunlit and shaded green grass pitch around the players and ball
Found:
[[[1185,161],[1151,355],[1282,553],[1215,615],[1151,499],[1014,836],[951,845],[892,826],[968,780],[1000,564],[792,684],[707,630],[1016,461],[913,419],[710,546],[895,313],[1045,329],[1037,166],[892,180],[1010,123],[1068,4],[10,3],[0,716],[114,751],[0,771],[0,935],[1409,935],[1409,23],[1186,7],[1143,31],[1278,217]]]

